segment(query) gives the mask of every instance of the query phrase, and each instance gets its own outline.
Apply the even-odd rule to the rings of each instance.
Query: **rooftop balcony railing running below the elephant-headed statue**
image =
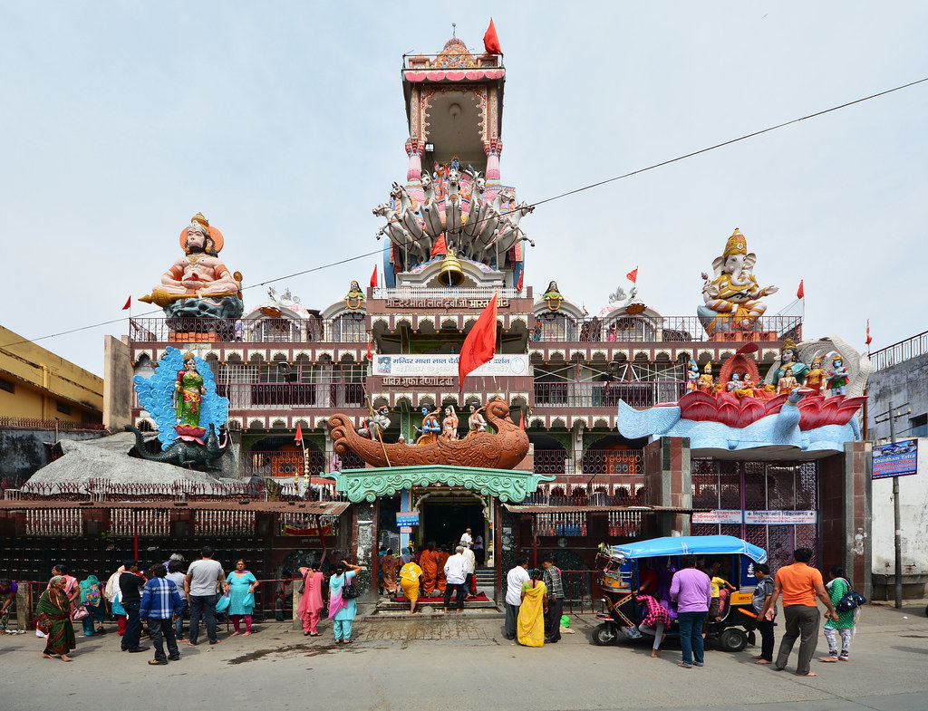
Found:
[[[540,324],[540,326],[539,326]],[[615,328],[612,328],[612,324]],[[762,316],[750,331],[718,332],[708,336],[696,316],[621,316],[616,319],[573,319],[554,312],[536,319],[532,340],[566,343],[651,343],[671,341],[802,340],[802,316]]]

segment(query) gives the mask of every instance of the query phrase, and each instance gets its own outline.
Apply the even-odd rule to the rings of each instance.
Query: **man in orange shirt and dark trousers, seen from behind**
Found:
[[[761,616],[772,620],[774,605],[780,595],[783,596],[783,616],[786,620],[786,632],[780,642],[780,653],[774,668],[782,671],[793,651],[793,644],[799,639],[799,661],[796,663],[797,677],[817,677],[809,668],[815,648],[818,645],[818,622],[820,619],[818,599],[828,608],[827,616],[833,620],[838,619],[838,613],[831,604],[831,597],[825,590],[821,573],[812,567],[812,552],[807,548],[797,548],[793,552],[793,565],[783,565],[777,571],[777,581],[773,586],[773,594],[767,598]]]

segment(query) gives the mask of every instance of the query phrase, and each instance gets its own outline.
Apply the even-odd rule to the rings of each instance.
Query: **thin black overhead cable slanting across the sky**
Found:
[[[607,179],[605,179],[605,180],[600,180],[600,181],[597,182],[597,183],[591,183],[591,184],[588,184],[588,185],[584,185],[584,186],[582,186],[582,187],[574,188],[574,190],[568,190],[566,193],[561,193],[561,194],[556,195],[556,196],[553,196],[553,197],[546,197],[546,198],[543,199],[543,200],[538,200],[538,201],[536,201],[536,202],[534,202],[534,203],[530,203],[530,204],[529,204],[529,207],[536,208],[536,207],[538,207],[539,205],[544,205],[544,204],[546,204],[546,203],[548,203],[548,202],[553,202],[554,200],[560,200],[560,199],[563,198],[563,197],[569,197],[569,196],[572,196],[572,195],[576,195],[577,193],[582,193],[582,192],[584,192],[584,191],[586,191],[586,190],[592,190],[594,187],[600,187],[601,185],[606,185],[606,184],[610,184],[610,183],[615,183],[616,181],[619,181],[619,180],[625,180],[625,178],[630,178],[630,177],[632,177],[632,176],[634,176],[634,175],[638,175],[638,174],[640,174],[640,173],[642,173],[642,172],[653,171],[653,170],[656,169],[656,168],[663,168],[663,167],[666,166],[666,165],[670,165],[671,163],[677,163],[677,162],[679,162],[680,160],[685,160],[685,159],[693,158],[693,157],[695,157],[695,156],[700,156],[700,155],[702,155],[703,153],[708,153],[709,151],[713,151],[713,150],[716,150],[716,149],[718,149],[718,148],[723,148],[723,147],[725,147],[725,146],[731,146],[732,144],[740,143],[741,141],[746,141],[746,140],[749,139],[749,138],[754,138],[754,137],[756,137],[756,136],[763,135],[764,133],[770,133],[771,131],[777,131],[778,129],[785,128],[786,126],[791,126],[791,125],[793,125],[793,123],[799,123],[800,121],[807,121],[807,120],[809,120],[809,119],[815,119],[815,118],[817,118],[818,116],[824,116],[825,114],[831,113],[831,112],[833,112],[833,111],[837,111],[837,110],[842,109],[842,108],[852,107],[852,106],[854,106],[854,105],[856,105],[856,104],[861,104],[861,103],[863,103],[864,101],[870,101],[870,99],[875,99],[875,98],[878,98],[878,97],[880,97],[880,96],[885,96],[885,95],[887,95],[887,94],[893,94],[894,92],[901,91],[902,89],[908,89],[909,87],[916,86],[916,85],[918,85],[918,84],[925,83],[925,82],[928,82],[928,77],[925,77],[925,78],[923,78],[923,79],[918,79],[918,80],[916,80],[916,81],[914,81],[914,82],[909,82],[909,83],[905,83],[905,84],[900,84],[899,86],[895,86],[895,87],[893,87],[892,89],[886,89],[885,91],[878,92],[878,93],[876,93],[876,94],[871,94],[871,95],[869,95],[869,96],[863,96],[863,97],[861,97],[861,98],[855,99],[854,101],[848,101],[848,102],[846,102],[846,103],[844,103],[844,104],[839,104],[838,106],[835,106],[835,107],[825,108],[825,109],[823,109],[823,110],[821,110],[821,111],[816,111],[815,113],[806,114],[806,116],[801,116],[801,117],[799,117],[798,119],[793,119],[792,121],[783,121],[782,123],[778,123],[778,124],[776,124],[776,125],[774,125],[774,126],[768,126],[768,127],[765,128],[765,129],[761,129],[761,130],[759,130],[759,131],[754,131],[753,133],[745,133],[744,135],[738,136],[737,138],[732,138],[732,139],[730,139],[730,140],[728,140],[728,141],[724,141],[724,142],[722,142],[722,143],[715,144],[715,146],[707,146],[707,147],[705,147],[705,148],[700,148],[699,150],[691,151],[690,153],[685,153],[685,154],[683,154],[683,155],[681,155],[681,156],[677,156],[677,158],[662,160],[662,161],[659,162],[659,163],[652,163],[651,165],[646,166],[646,167],[644,167],[644,168],[639,168],[637,171],[625,172],[625,173],[623,173],[622,175],[616,175],[616,176],[614,176],[614,177],[612,177],[612,178],[607,178]],[[487,219],[490,219],[490,218],[487,218]],[[482,222],[485,222],[485,220],[482,221]],[[440,235],[440,234],[441,234],[441,233],[439,233],[439,235]],[[413,240],[410,240],[410,241],[412,241],[412,242],[417,242],[417,241],[423,240],[423,239],[433,239],[433,238],[438,237],[439,235],[424,234],[424,235],[422,235],[421,237],[417,237],[417,238],[415,238],[415,239],[413,239]],[[364,259],[367,259],[367,257],[373,257],[373,256],[375,256],[375,255],[380,255],[380,254],[382,254],[382,253],[383,253],[383,249],[382,249],[382,248],[381,248],[381,249],[375,249],[374,251],[365,252],[365,253],[363,253],[363,254],[358,254],[358,255],[355,255],[354,257],[346,257],[346,258],[344,258],[343,260],[331,261],[331,262],[329,262],[328,264],[321,264],[321,265],[316,266],[316,267],[310,267],[309,269],[304,269],[304,270],[301,271],[301,272],[294,272],[294,273],[290,273],[290,274],[285,274],[284,276],[277,276],[277,277],[275,277],[275,278],[273,278],[273,279],[267,279],[267,280],[265,280],[265,281],[263,281],[263,282],[258,282],[257,284],[251,284],[251,285],[249,285],[249,286],[242,286],[242,289],[241,289],[241,290],[242,290],[242,291],[245,291],[246,289],[251,289],[251,288],[254,288],[254,287],[256,287],[256,286],[267,286],[268,284],[274,284],[275,282],[283,281],[284,279],[292,279],[292,278],[294,278],[294,277],[296,277],[296,276],[303,276],[303,274],[309,274],[309,273],[314,273],[314,272],[320,272],[320,271],[322,271],[322,270],[324,270],[324,269],[331,269],[332,267],[337,267],[337,266],[340,266],[340,265],[342,265],[342,264],[347,264],[347,263],[352,262],[352,261],[364,260]],[[140,314],[136,314],[136,315],[138,315],[138,316],[148,316],[148,315],[150,315],[150,314],[158,313],[158,312],[159,312],[159,311],[146,311],[145,313],[140,313]],[[37,342],[37,341],[47,340],[48,338],[56,338],[56,337],[58,337],[58,336],[68,336],[68,335],[70,335],[70,334],[80,333],[81,331],[87,331],[87,330],[90,330],[90,329],[92,329],[92,328],[99,328],[100,326],[105,326],[105,325],[110,325],[110,324],[118,324],[118,323],[121,322],[122,320],[123,320],[122,318],[120,318],[120,319],[112,319],[112,320],[110,320],[110,321],[103,321],[103,322],[100,322],[99,324],[90,324],[90,325],[86,325],[86,326],[81,326],[80,328],[72,328],[72,329],[70,329],[70,330],[68,330],[68,331],[60,331],[60,332],[58,332],[58,333],[56,333],[56,334],[50,334],[50,335],[48,335],[48,336],[40,336],[40,337],[38,337],[38,338],[24,339],[24,340],[20,340],[20,341],[13,341],[12,343],[5,343],[4,345],[0,346],[0,348],[7,348],[7,347],[9,347],[9,346],[19,346],[20,344],[23,344],[23,343],[35,343],[35,342]]]

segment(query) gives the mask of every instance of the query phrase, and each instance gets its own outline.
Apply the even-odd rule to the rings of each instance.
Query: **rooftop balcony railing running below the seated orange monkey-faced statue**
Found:
[[[367,343],[361,318],[304,322],[283,318],[196,319],[135,318],[129,339],[137,343]]]

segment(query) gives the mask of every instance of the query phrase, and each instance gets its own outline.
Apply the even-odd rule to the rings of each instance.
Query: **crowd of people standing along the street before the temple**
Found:
[[[465,600],[476,594],[476,540],[470,529],[461,536],[455,552],[446,546],[430,542],[419,552],[406,548],[396,556],[391,549],[380,552],[380,589],[387,595],[409,603],[415,614],[421,596],[431,598],[441,593],[444,612],[459,613]],[[829,644],[828,654],[819,661],[836,663],[850,659],[857,610],[838,611],[838,603],[851,591],[841,566],[833,566],[830,581],[825,584],[817,568],[809,565],[812,552],[796,549],[793,565],[784,565],[771,575],[764,564],[754,564],[752,605],[756,614],[756,630],[760,636],[760,652],[754,656],[758,665],[773,665],[777,670],[787,666],[796,641],[799,641],[795,673],[817,676],[811,669],[818,644],[820,612],[818,602],[826,608],[823,633]],[[282,621],[292,599],[293,585],[301,593],[294,610],[303,625],[303,634],[318,637],[319,621],[328,616],[336,644],[352,642],[354,617],[357,615],[358,590],[354,584],[361,567],[347,561],[325,566],[320,561],[299,568],[299,576],[284,571],[277,582],[274,608]],[[706,630],[720,621],[727,608],[728,595],[737,590],[721,570],[719,561],[697,567],[694,556],[683,556],[679,569],[673,573],[669,590],[658,594],[658,575],[648,566],[638,570],[636,600],[640,604],[638,630],[653,638],[651,656],[660,655],[661,645],[676,621],[681,658],[678,667],[702,667],[705,664]],[[82,623],[82,637],[105,634],[104,621],[108,611],[117,622],[117,636],[122,651],[147,652],[154,648],[149,665],[162,666],[179,660],[179,643],[200,644],[201,626],[206,641],[218,644],[217,616],[228,616],[234,631],[232,637],[251,635],[255,590],[259,580],[247,569],[244,560],[226,575],[223,566],[213,558],[213,549],[204,546],[200,559],[189,565],[184,556],[174,553],[163,564],[150,565],[143,572],[136,560],[126,560],[105,583],[97,576],[83,580],[74,578],[67,565],[55,565],[52,578],[39,597],[35,608],[36,635],[45,639],[45,658],[72,660],[76,646],[73,622]],[[669,571],[668,571],[669,575]],[[13,580],[0,578],[0,634],[18,634],[22,629],[9,628],[9,611],[19,586]],[[527,647],[541,647],[561,641],[564,586],[561,569],[553,555],[541,565],[529,567],[527,558],[517,559],[505,582],[506,639]],[[452,603],[454,598],[454,603]],[[782,607],[783,633],[779,652],[774,658],[775,619]],[[188,636],[184,637],[184,620],[189,616]],[[149,646],[142,645],[143,622]]]

